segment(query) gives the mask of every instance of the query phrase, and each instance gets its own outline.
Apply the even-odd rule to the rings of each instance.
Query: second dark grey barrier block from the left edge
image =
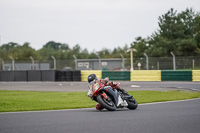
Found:
[[[14,81],[27,81],[27,71],[14,71]]]

